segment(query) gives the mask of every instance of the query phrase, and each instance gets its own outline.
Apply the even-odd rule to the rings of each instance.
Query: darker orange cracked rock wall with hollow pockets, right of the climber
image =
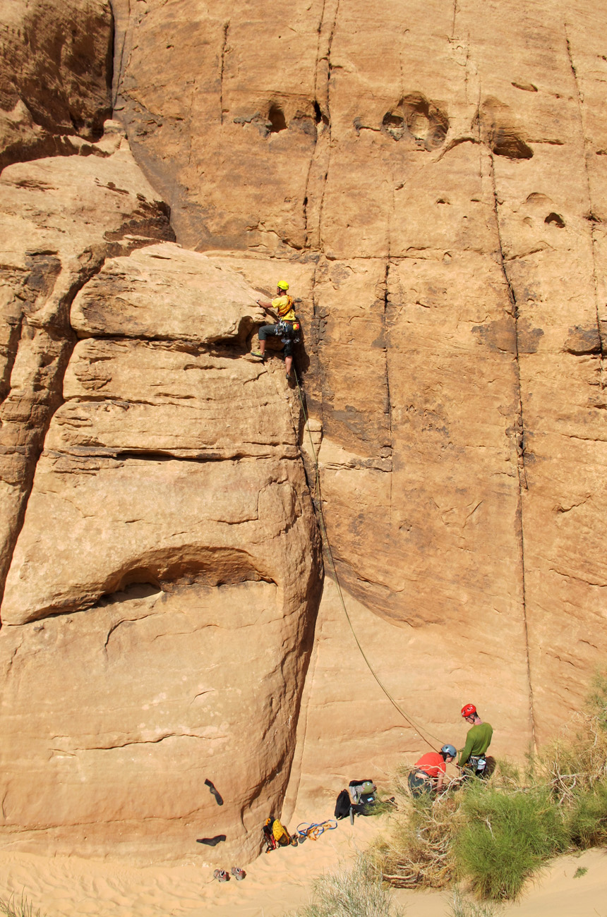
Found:
[[[607,649],[602,7],[115,9],[117,115],[178,240],[310,268],[301,369],[344,585],[451,635],[455,713],[520,660],[502,728],[523,754]]]

